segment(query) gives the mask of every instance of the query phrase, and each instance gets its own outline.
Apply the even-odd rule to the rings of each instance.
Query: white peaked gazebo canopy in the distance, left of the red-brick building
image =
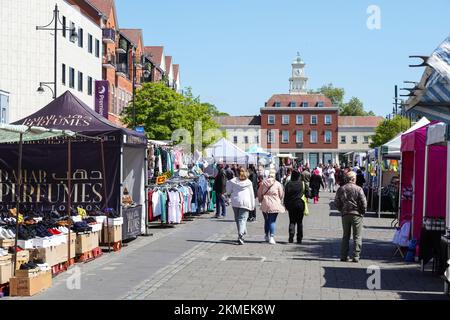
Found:
[[[205,149],[205,158],[215,162],[248,164],[249,155],[225,138]]]

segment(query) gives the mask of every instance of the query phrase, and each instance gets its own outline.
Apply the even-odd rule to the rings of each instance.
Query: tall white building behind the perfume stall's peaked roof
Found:
[[[55,4],[61,22],[78,34],[72,42],[70,31],[58,31],[57,96],[70,90],[94,108],[95,81],[102,79],[99,24],[65,0],[5,0],[0,6],[1,121],[20,120],[52,101],[50,89],[40,94],[37,88],[54,81],[54,33],[36,26],[52,21]]]

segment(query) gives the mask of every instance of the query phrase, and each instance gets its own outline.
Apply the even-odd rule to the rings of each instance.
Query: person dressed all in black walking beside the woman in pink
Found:
[[[294,170],[284,193],[284,205],[289,212],[289,243],[294,242],[295,226],[297,226],[297,243],[301,244],[303,240],[303,217],[305,215],[303,195],[309,196],[309,187],[301,179],[300,172]]]

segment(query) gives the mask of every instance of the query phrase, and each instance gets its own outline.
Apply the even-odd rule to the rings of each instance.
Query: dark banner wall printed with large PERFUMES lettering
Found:
[[[23,184],[21,210],[66,212],[69,194],[67,143],[25,144],[23,146]],[[59,143],[59,144],[58,144]],[[2,145],[0,153],[0,211],[16,206],[18,146]],[[117,147],[105,145],[106,172],[101,166],[98,143],[72,143],[72,207],[87,211],[102,210],[106,205],[117,209],[120,199],[119,157]]]

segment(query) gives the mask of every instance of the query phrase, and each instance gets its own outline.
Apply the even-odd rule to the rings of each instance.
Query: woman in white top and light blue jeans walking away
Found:
[[[256,207],[253,184],[248,179],[245,168],[238,169],[239,175],[227,181],[227,193],[231,198],[234,211],[234,219],[238,230],[238,244],[244,244],[244,236],[247,234],[247,220],[249,212]]]

